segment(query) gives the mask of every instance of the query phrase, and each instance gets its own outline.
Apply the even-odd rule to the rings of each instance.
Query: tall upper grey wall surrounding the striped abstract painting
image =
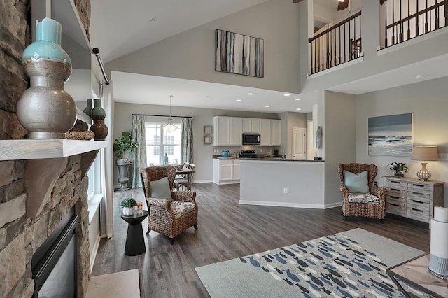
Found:
[[[291,0],[267,1],[120,57],[106,69],[298,93],[298,15],[299,5]],[[215,29],[262,38],[265,77],[214,71]]]

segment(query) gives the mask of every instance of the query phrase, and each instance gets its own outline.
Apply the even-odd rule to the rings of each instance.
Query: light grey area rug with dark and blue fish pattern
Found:
[[[405,297],[386,268],[422,253],[358,228],[196,271],[211,297]]]

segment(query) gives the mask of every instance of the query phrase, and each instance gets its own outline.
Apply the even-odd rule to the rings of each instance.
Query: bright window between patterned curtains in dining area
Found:
[[[176,120],[174,120],[176,121]],[[181,132],[167,132],[163,129],[165,122],[146,122],[146,158],[148,164],[163,164],[163,156],[168,155],[169,163],[181,161]],[[180,122],[174,125],[181,127]]]

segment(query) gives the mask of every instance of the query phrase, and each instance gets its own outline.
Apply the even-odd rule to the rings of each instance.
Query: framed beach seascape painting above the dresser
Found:
[[[369,155],[412,153],[412,113],[369,118]]]

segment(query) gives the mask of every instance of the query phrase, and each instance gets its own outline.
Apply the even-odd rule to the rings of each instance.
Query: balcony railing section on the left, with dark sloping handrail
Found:
[[[311,44],[311,73],[349,62],[362,55],[361,12],[308,38]]]

